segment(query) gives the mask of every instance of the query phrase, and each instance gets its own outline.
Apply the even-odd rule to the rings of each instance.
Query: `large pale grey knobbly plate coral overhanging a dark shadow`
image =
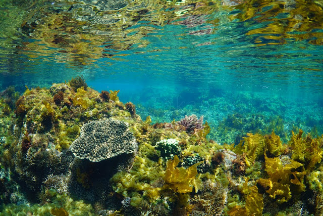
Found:
[[[90,121],[81,128],[80,137],[71,145],[73,154],[81,159],[98,162],[123,153],[136,151],[137,143],[128,123],[105,119]]]

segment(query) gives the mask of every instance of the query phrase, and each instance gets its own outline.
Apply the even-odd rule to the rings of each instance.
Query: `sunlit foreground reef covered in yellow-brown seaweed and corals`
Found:
[[[83,77],[1,93],[0,215],[323,213],[322,135],[220,145],[203,116],[153,124],[118,93]]]

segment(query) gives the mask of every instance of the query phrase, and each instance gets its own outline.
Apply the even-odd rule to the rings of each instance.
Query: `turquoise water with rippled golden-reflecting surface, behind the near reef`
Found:
[[[1,90],[83,75],[143,119],[204,115],[221,143],[323,133],[321,1],[17,2],[0,2]]]

